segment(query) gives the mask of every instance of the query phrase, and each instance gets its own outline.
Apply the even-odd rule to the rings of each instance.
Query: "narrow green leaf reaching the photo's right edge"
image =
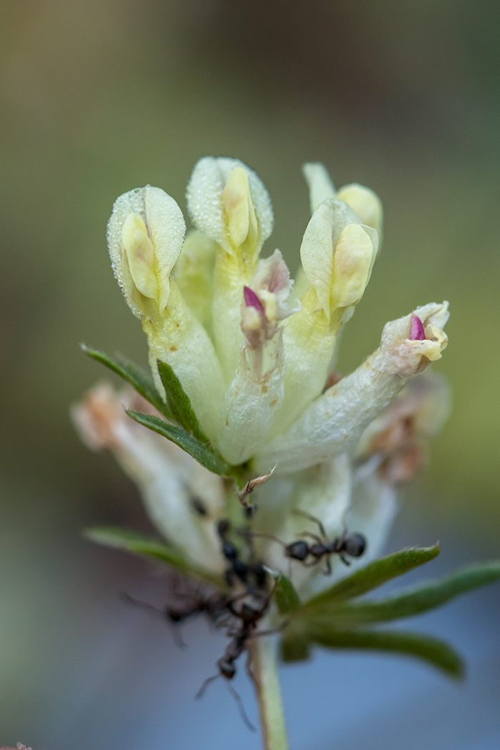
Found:
[[[367,622],[387,622],[434,609],[455,596],[493,583],[499,578],[500,562],[483,562],[461,568],[441,580],[408,589],[382,601],[361,601],[340,607],[325,604],[321,609],[314,610],[313,617],[316,619],[317,615],[328,619],[337,628],[350,628]]]

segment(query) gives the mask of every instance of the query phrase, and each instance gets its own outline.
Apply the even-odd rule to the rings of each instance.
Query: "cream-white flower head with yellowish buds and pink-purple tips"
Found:
[[[424,373],[448,343],[446,302],[387,323],[366,362],[334,375],[340,329],[379,252],[382,204],[358,184],[336,191],[322,164],[306,164],[304,175],[312,215],[295,284],[279,250],[259,258],[271,201],[239,160],[196,164],[187,187],[194,229],[185,239],[181,209],[156,187],[125,193],[109,220],[115,276],[142,320],[156,391],[129,366],[93,353],[148,401],[97,386],[73,419],[88,446],[111,450],[136,481],[169,543],[215,576],[226,565],[216,532],[224,517],[251,527],[273,571],[289,564],[276,539],[289,544],[305,526],[318,531],[296,511],[319,519],[328,538],[346,529],[364,535],[367,551],[354,567],[374,559],[397,487],[421,468],[447,413],[445,383]],[[258,510],[249,520],[250,493]],[[339,556],[332,562],[333,579],[321,565],[293,562],[298,592],[346,574]]]

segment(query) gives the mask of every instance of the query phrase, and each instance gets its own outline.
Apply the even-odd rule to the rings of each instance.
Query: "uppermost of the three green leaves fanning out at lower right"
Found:
[[[396,578],[413,568],[418,568],[418,565],[430,562],[438,555],[439,544],[434,544],[433,547],[413,547],[381,557],[304,602],[300,610],[297,610],[297,614],[300,616],[302,612],[305,614],[306,610],[309,613],[309,610],[323,607],[325,604],[334,602],[337,604],[337,602],[360,596],[382,586],[382,583],[386,583],[391,578]]]

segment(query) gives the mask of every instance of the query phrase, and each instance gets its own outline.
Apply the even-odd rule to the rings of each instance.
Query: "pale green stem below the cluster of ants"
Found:
[[[255,638],[250,648],[264,748],[288,750],[274,638]]]

